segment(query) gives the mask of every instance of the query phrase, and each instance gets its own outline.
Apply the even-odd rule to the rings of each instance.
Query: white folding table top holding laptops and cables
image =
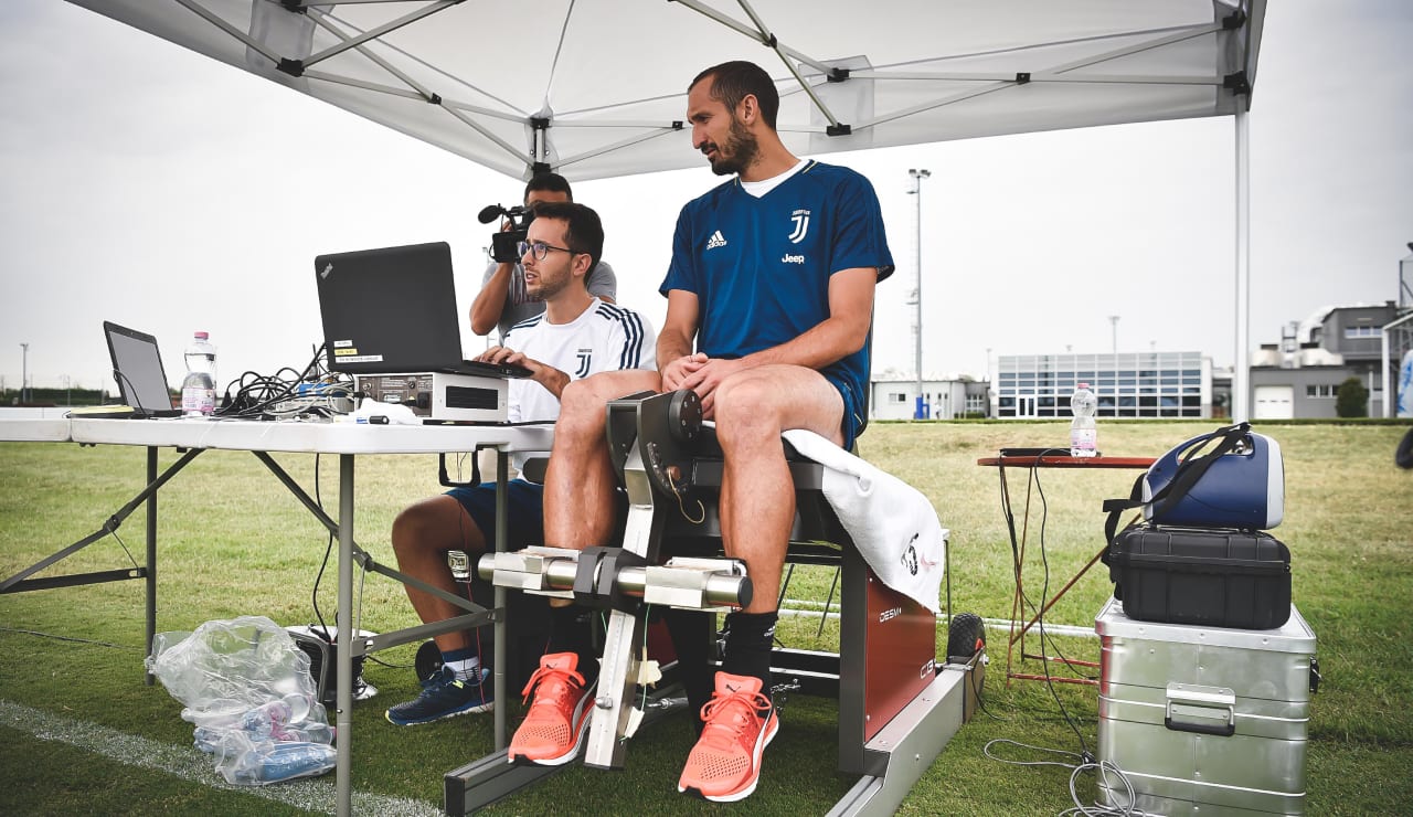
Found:
[[[552,425],[365,425],[328,421],[95,420],[4,417],[0,440],[298,451],[309,454],[439,454],[478,445],[506,451],[548,451]]]

